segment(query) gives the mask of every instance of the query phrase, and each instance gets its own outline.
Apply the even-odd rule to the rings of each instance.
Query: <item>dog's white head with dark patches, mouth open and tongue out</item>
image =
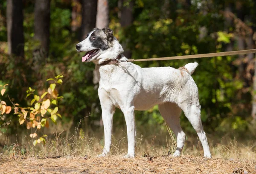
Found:
[[[122,46],[113,36],[113,31],[108,28],[90,31],[85,40],[76,45],[76,50],[86,52],[82,62],[93,61],[96,64],[114,59],[123,52]]]

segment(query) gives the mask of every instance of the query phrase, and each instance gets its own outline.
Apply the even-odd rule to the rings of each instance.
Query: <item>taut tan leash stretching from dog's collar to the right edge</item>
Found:
[[[159,58],[149,58],[149,59],[128,59],[127,62],[152,61],[152,60],[194,59],[194,58],[202,58],[202,57],[231,56],[231,55],[249,54],[249,53],[256,53],[256,49],[226,51],[226,52],[207,53],[207,54],[194,54],[194,55],[185,55],[185,56],[159,57]]]

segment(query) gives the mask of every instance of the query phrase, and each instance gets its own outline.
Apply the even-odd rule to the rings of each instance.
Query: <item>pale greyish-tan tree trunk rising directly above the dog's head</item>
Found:
[[[103,29],[105,27],[108,27],[108,23],[109,23],[108,0],[98,0],[96,27],[99,29]]]

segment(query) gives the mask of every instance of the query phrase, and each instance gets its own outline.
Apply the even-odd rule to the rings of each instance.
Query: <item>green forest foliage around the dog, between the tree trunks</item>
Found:
[[[97,85],[92,83],[92,71],[95,66],[93,63],[82,63],[82,53],[78,54],[76,51],[75,45],[80,40],[79,29],[77,31],[71,29],[70,1],[51,1],[49,57],[37,65],[39,68],[35,68],[33,55],[33,51],[39,45],[38,41],[33,39],[33,3],[24,4],[26,61],[20,62],[17,57],[7,55],[6,1],[0,2],[0,85],[9,84],[8,91],[5,92],[8,92],[12,102],[17,102],[20,106],[29,106],[24,111],[20,110],[20,106],[15,106],[19,108],[19,120],[12,113],[2,114],[4,121],[1,117],[0,125],[7,123],[8,120],[12,120],[12,123],[8,122],[9,128],[2,126],[1,131],[12,135],[20,130],[19,124],[22,122],[24,124],[25,120],[29,125],[31,124],[30,128],[33,128],[34,120],[40,123],[41,127],[47,127],[49,120],[56,123],[58,117],[62,117],[62,123],[73,121],[73,124],[77,125],[87,115],[90,115],[90,119],[81,126],[98,128],[95,123],[100,120],[101,108]],[[117,8],[118,0],[109,0],[110,27],[118,40],[122,44],[125,43],[125,49],[132,51],[134,59],[220,52],[225,51],[227,44],[232,42],[235,42],[234,49],[236,49],[234,28],[231,26],[225,29],[225,18],[220,13],[227,1],[213,0],[207,3],[208,6],[204,6],[206,1],[202,0],[191,2],[192,5],[186,7],[181,1],[175,3],[173,0],[136,0],[133,23],[122,28],[118,18],[120,10]],[[249,14],[255,4],[250,0],[244,3],[248,7],[245,13]],[[128,1],[123,5],[127,6]],[[202,27],[207,29],[204,36],[201,36]],[[248,119],[251,104],[250,83],[246,91],[245,87],[248,85],[244,84],[244,79],[238,77],[239,65],[234,64],[236,58],[236,56],[228,56],[196,60],[148,61],[137,64],[142,67],[178,68],[197,61],[199,66],[192,77],[199,88],[204,127],[212,132],[232,129],[244,131],[248,129],[247,125],[250,122]],[[63,76],[49,78],[56,74]],[[64,85],[59,87],[58,85],[62,83]],[[58,96],[57,90],[62,94],[63,99]],[[6,101],[6,106],[11,106],[7,95],[1,96],[0,100]],[[41,107],[48,105],[49,107],[41,110]],[[238,106],[239,109],[236,109]],[[34,114],[38,112],[34,119],[32,115],[32,120],[31,112]],[[40,116],[40,120],[36,120],[37,116]],[[160,125],[165,128],[157,106],[148,111],[136,111],[136,118],[137,125]],[[120,124],[125,122],[119,110],[116,111],[114,119]],[[184,115],[181,116],[181,123],[185,131],[193,130]],[[35,134],[31,136],[35,137]],[[41,138],[44,137],[38,138],[34,144],[44,142]]]

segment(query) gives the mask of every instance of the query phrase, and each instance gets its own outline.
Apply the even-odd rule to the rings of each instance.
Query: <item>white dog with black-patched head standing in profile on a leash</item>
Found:
[[[134,110],[145,111],[158,105],[160,114],[177,137],[173,156],[180,156],[186,134],[180,127],[180,113],[192,124],[204,148],[204,157],[211,158],[207,137],[201,123],[201,106],[198,87],[191,77],[198,63],[172,67],[141,68],[127,62],[119,41],[108,28],[93,29],[76,45],[76,50],[86,52],[82,62],[93,62],[99,78],[99,100],[102,108],[105,145],[101,155],[110,151],[115,108],[125,116],[128,137],[128,153],[135,156],[136,126]]]

